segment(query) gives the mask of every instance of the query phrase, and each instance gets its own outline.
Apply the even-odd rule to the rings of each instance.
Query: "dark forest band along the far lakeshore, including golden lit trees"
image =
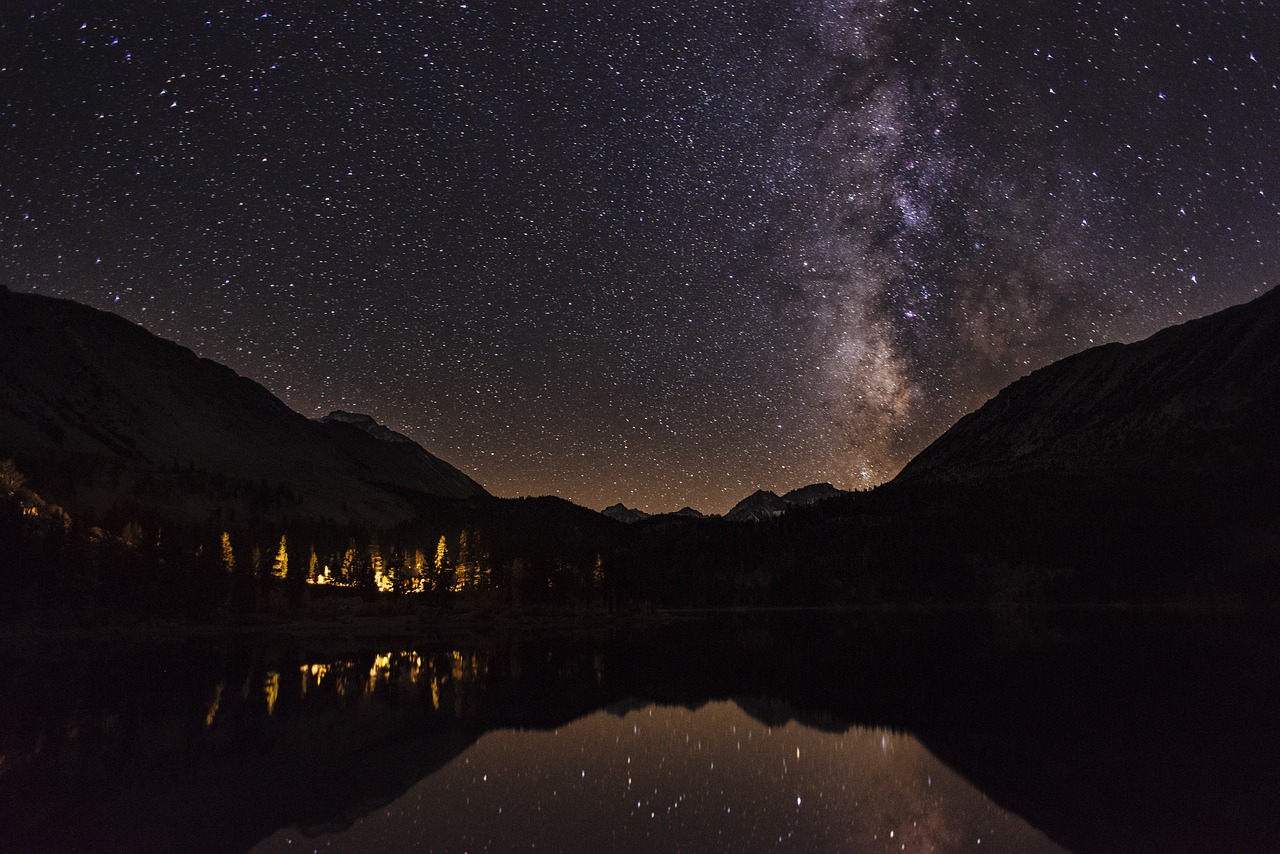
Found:
[[[326,597],[429,607],[714,608],[1275,602],[1265,478],[892,484],[762,522],[623,525],[556,498],[421,498],[381,530],[332,520],[90,521],[0,467],[0,608],[207,618]],[[132,513],[132,515],[131,515]]]

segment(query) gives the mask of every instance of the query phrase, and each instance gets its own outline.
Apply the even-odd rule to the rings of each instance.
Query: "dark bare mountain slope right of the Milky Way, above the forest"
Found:
[[[1276,474],[1277,416],[1280,288],[1032,373],[957,421],[893,483]]]

